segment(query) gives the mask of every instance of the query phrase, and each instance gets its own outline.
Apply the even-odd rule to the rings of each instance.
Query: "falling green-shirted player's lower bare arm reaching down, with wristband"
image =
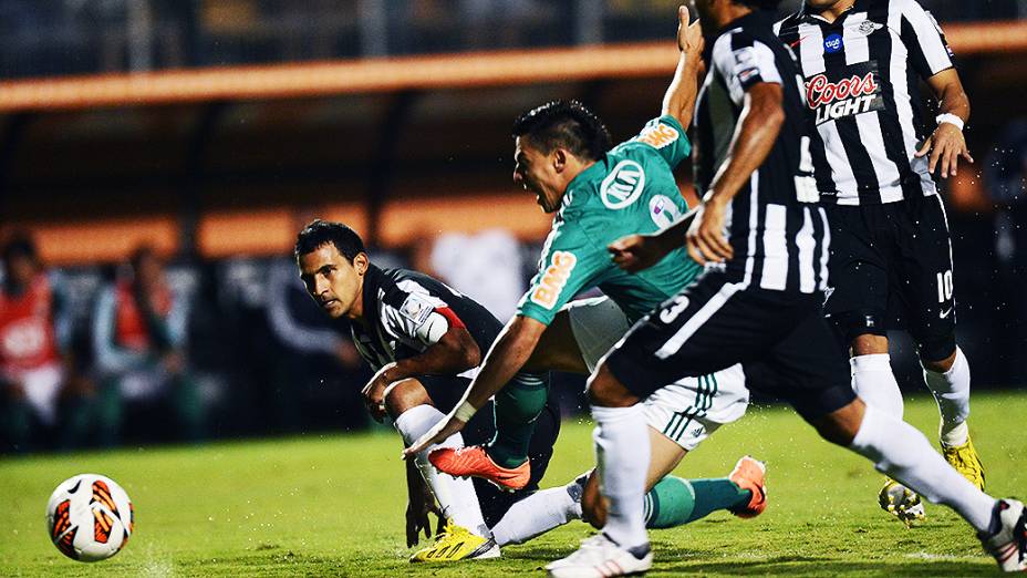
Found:
[[[499,333],[485,357],[481,370],[467,388],[460,403],[421,440],[403,451],[404,458],[440,442],[464,429],[467,421],[523,368],[546,331],[546,324],[525,316],[515,316]]]

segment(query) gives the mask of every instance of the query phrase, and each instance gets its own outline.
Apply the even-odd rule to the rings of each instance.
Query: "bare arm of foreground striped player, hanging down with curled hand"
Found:
[[[770,154],[785,122],[781,85],[758,82],[745,93],[745,106],[727,157],[709,184],[688,229],[688,255],[697,262],[724,261],[734,255],[724,235],[725,209]]]

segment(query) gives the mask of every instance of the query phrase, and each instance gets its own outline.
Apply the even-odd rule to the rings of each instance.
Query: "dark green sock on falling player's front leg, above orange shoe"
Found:
[[[528,460],[535,421],[549,399],[549,373],[518,373],[496,394],[496,436],[488,456],[500,467],[517,467]]]

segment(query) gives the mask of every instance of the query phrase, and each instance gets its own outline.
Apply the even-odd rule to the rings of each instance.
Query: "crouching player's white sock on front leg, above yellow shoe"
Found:
[[[411,445],[445,415],[430,405],[416,405],[396,417],[395,426],[403,437],[404,445]],[[479,536],[489,536],[485,518],[481,517],[481,506],[478,495],[470,479],[460,479],[443,474],[428,462],[428,454],[437,447],[463,447],[464,436],[459,433],[450,435],[446,441],[428,446],[417,454],[415,463],[425,483],[435,495],[443,516],[453,518],[453,522],[464,526]]]

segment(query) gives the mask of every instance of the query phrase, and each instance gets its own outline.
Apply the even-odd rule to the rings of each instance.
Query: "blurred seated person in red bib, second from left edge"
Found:
[[[172,413],[175,437],[201,437],[204,407],[186,360],[188,311],[188,300],[175,295],[164,264],[148,247],[132,255],[128,275],[101,291],[93,348],[102,380],[96,416],[104,445],[120,441],[126,404]]]

